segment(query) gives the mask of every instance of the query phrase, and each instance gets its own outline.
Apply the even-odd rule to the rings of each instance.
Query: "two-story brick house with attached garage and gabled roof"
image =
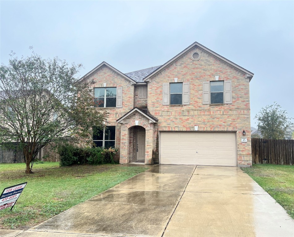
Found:
[[[251,166],[249,82],[253,73],[195,42],[161,66],[121,73],[102,62],[97,110],[107,110],[97,146],[126,164]]]

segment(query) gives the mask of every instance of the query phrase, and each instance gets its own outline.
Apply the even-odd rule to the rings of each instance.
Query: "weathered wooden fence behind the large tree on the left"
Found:
[[[47,144],[42,148],[41,152],[36,157],[36,160],[42,161],[59,161],[59,155],[57,154],[54,144]],[[23,151],[15,149],[7,149],[0,146],[0,163],[23,163]]]

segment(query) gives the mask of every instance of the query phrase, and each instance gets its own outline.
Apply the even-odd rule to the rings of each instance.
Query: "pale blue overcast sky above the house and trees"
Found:
[[[34,52],[123,73],[197,41],[254,73],[251,126],[277,102],[294,118],[294,1],[0,1],[0,61]],[[292,120],[294,122],[294,120]]]

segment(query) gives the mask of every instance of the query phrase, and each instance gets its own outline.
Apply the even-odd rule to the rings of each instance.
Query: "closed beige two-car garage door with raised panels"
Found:
[[[160,164],[236,163],[235,132],[160,132]]]

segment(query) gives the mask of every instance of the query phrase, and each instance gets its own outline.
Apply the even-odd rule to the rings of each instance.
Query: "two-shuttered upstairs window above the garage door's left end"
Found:
[[[190,82],[163,83],[162,105],[190,105]]]

